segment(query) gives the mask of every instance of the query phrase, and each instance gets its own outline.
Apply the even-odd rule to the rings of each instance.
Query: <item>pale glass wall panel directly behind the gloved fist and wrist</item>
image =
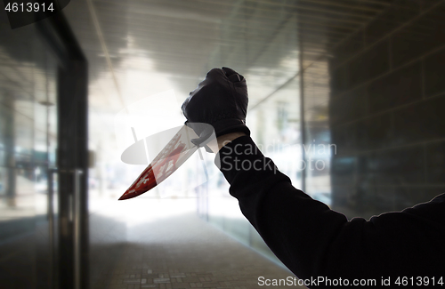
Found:
[[[247,126],[251,136],[263,154],[271,157],[294,186],[300,188],[303,148],[296,18],[282,7],[272,10],[267,4],[247,7],[248,4],[224,20],[221,37],[228,44],[215,48],[208,68],[229,66],[243,71],[248,84]],[[265,15],[270,19],[267,24]],[[239,25],[243,26],[242,34]],[[209,221],[240,242],[273,256],[240,212],[238,201],[228,194],[229,185],[223,175],[214,173],[214,165],[207,167],[214,178],[208,182],[208,193],[199,195],[205,199],[198,210],[206,211]]]

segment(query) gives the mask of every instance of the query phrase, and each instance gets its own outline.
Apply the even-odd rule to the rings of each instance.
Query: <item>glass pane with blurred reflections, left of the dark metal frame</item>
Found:
[[[1,26],[0,35],[1,286],[43,287],[52,274],[47,183],[49,155],[55,164],[56,66],[34,27]]]

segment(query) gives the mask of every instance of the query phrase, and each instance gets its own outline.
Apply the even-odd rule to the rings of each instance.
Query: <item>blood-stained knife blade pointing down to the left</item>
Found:
[[[198,146],[191,142],[197,138],[193,129],[183,125],[119,200],[140,196],[166,180],[197,151]]]

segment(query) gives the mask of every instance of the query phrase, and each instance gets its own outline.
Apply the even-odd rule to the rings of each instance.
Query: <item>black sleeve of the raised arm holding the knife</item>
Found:
[[[348,221],[295,189],[248,136],[223,147],[218,161],[242,213],[295,276],[376,278],[376,285],[382,277],[445,278],[444,195]]]

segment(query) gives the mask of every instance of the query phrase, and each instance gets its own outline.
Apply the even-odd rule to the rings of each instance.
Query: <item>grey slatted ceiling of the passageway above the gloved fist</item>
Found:
[[[231,64],[243,71],[277,66],[290,47],[277,51],[275,60],[262,59],[262,53],[280,29],[295,21],[295,38],[303,40],[308,66],[391,4],[390,0],[79,0],[65,12],[90,63],[91,104],[113,110],[134,101],[122,93],[129,85],[127,72],[135,67],[156,74],[155,82],[168,78],[166,85],[174,85],[178,99],[183,99],[204,76],[210,60],[223,52],[235,53]],[[142,59],[147,61],[138,62]],[[108,89],[114,92],[103,94]]]

